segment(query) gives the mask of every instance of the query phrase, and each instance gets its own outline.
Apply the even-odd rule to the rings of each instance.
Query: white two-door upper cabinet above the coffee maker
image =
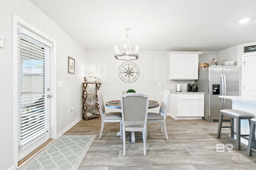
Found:
[[[174,51],[170,56],[170,80],[198,80],[198,55],[202,52]]]

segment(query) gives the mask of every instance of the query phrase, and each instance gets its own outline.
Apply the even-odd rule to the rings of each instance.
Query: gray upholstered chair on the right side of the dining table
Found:
[[[166,139],[168,139],[167,130],[166,130],[166,115],[168,111],[169,100],[170,100],[170,91],[165,90],[162,94],[159,113],[152,113],[152,112],[148,113],[148,123],[159,123],[162,133],[163,133],[162,123],[164,123],[164,133],[165,133]]]

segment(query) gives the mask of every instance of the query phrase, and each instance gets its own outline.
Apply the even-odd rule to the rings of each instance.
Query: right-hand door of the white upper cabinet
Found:
[[[198,80],[198,55],[186,55],[186,79]]]

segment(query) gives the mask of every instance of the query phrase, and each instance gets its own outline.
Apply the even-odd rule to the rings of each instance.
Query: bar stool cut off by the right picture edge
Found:
[[[252,156],[252,150],[256,152],[256,141],[255,141],[255,125],[256,118],[251,119],[250,135],[248,141],[247,155]]]

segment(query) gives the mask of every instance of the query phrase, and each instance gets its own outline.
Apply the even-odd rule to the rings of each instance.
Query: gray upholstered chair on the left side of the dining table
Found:
[[[100,137],[104,129],[105,122],[120,122],[120,138],[122,139],[122,113],[121,112],[105,112],[105,104],[102,96],[101,90],[97,91],[98,101],[100,105],[100,115],[101,115],[101,127],[100,127]]]

